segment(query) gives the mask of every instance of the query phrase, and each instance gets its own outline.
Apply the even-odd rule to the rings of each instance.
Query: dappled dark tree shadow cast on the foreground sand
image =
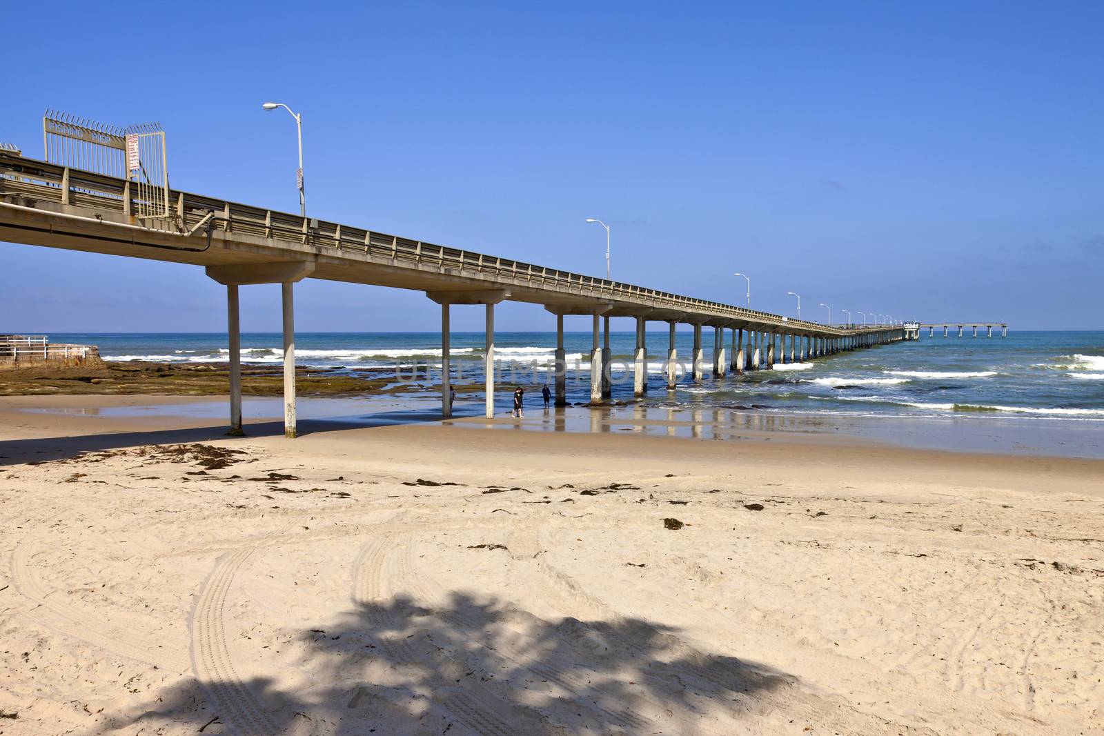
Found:
[[[216,655],[193,652],[197,671],[210,676],[112,725],[248,735],[722,734],[774,712],[782,723],[826,725],[838,707],[767,666],[694,649],[671,628],[552,622],[466,594],[433,607],[405,597],[364,602],[282,639],[272,668],[296,671],[290,680],[302,686],[241,681]]]

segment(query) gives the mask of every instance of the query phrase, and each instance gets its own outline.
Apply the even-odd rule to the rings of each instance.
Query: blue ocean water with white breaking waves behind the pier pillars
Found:
[[[217,333],[79,333],[50,335],[53,342],[99,346],[106,360],[220,362],[227,340]],[[731,337],[725,332],[725,348]],[[678,388],[666,388],[667,332],[648,333],[648,394],[643,404],[656,407],[737,408],[758,413],[873,416],[1047,417],[1068,422],[1104,422],[1104,332],[1017,332],[1007,338],[958,338],[956,332],[920,341],[841,353],[773,370],[709,377],[693,384],[684,375]],[[567,353],[567,398],[590,398],[587,355],[590,332],[564,335]],[[631,399],[635,334],[612,332],[613,398]],[[703,330],[707,372],[712,364],[713,335]],[[246,363],[283,361],[280,335],[243,333]],[[538,387],[552,383],[554,332],[496,334],[497,387]],[[677,333],[682,367],[688,369],[692,333]],[[482,384],[484,335],[452,335],[454,381]],[[301,365],[394,370],[397,380],[431,387],[439,378],[440,337],[429,332],[302,332],[296,335]],[[680,372],[681,373],[681,372]],[[503,398],[505,405],[506,398]]]

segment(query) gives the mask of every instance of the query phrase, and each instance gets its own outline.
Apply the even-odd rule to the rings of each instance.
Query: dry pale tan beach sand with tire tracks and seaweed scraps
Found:
[[[1104,733],[1101,461],[10,401],[4,736]]]

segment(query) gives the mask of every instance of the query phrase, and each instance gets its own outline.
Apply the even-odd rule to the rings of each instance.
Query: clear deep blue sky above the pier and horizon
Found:
[[[1104,326],[1104,3],[4,6],[0,141],[168,131],[174,188],[821,321]],[[199,267],[0,244],[3,331],[220,331]],[[838,316],[834,311],[834,317]],[[454,309],[456,330],[480,308]],[[582,319],[582,318],[578,318]],[[242,329],[279,329],[275,286]],[[308,280],[297,329],[435,330]],[[554,329],[503,305],[500,330]],[[583,329],[569,323],[569,329]],[[628,322],[620,326],[630,329]],[[615,328],[617,329],[617,328]]]

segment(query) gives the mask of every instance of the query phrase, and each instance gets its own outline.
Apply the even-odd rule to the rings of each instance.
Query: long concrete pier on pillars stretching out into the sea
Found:
[[[450,367],[452,305],[484,305],[487,320],[485,358],[487,416],[495,414],[493,306],[503,299],[543,305],[556,320],[556,404],[566,403],[563,316],[592,316],[592,401],[609,396],[609,319],[634,317],[640,334],[634,353],[634,393],[647,388],[647,319],[670,327],[668,385],[677,380],[675,329],[692,324],[692,375],[703,377],[701,328],[714,328],[715,376],[726,366],[742,372],[787,361],[819,358],[841,349],[885,344],[902,339],[900,326],[834,327],[760,312],[583,274],[546,268],[510,258],[424,243],[365,228],[308,218],[169,191],[171,218],[135,217],[142,202],[125,178],[35,161],[0,150],[0,241],[84,253],[146,258],[206,268],[227,287],[227,332],[231,335],[232,430],[242,425],[238,286],[280,284],[284,328],[285,430],[296,435],[294,282],[306,277],[426,292],[442,305],[443,367]],[[599,342],[599,317],[605,339]],[[940,323],[944,324],[944,323]],[[959,335],[964,324],[959,326]],[[987,323],[973,323],[975,328]],[[1001,334],[1007,334],[1002,323]],[[723,330],[733,330],[731,356]],[[746,338],[745,338],[746,332]],[[944,333],[947,327],[944,324]],[[931,333],[931,330],[930,330]],[[767,342],[767,344],[764,344]],[[726,362],[725,358],[731,358]],[[643,366],[643,367],[641,367]],[[580,376],[580,380],[581,376]],[[442,385],[442,410],[448,414],[450,376]]]

